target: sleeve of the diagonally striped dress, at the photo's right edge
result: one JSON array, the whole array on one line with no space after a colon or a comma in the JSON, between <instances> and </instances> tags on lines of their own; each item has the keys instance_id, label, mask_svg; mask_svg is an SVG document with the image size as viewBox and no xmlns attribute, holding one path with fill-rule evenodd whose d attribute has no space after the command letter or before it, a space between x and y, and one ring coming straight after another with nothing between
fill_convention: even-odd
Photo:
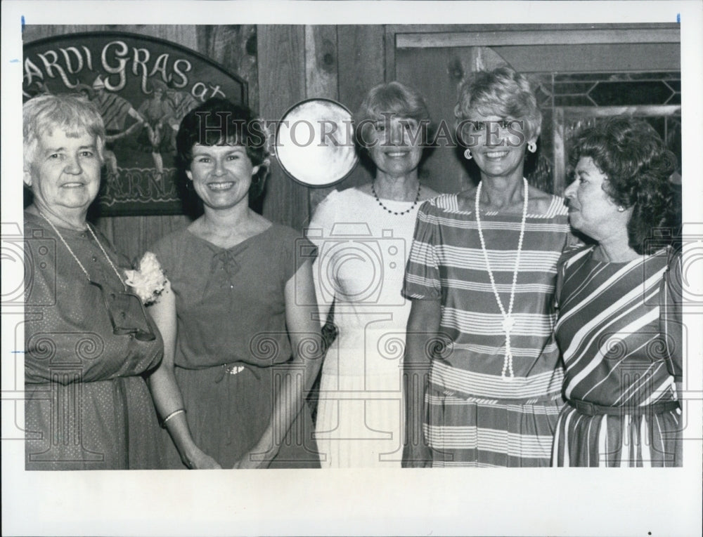
<instances>
[{"instance_id":1,"label":"sleeve of the diagonally striped dress, at the photo's right edge","mask_svg":"<svg viewBox=\"0 0 703 537\"><path fill-rule=\"evenodd\" d=\"M666 344L666 367L674 382L683 379L683 319L681 302L683 282L681 253L670 253L662 281L662 300L659 309L659 330Z\"/></svg>"}]
</instances>

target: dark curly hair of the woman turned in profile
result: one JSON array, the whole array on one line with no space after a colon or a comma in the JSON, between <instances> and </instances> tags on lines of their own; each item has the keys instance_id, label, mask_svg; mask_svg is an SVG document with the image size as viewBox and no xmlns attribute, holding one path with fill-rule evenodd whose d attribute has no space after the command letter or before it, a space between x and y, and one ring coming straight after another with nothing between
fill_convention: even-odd
<instances>
[{"instance_id":1,"label":"dark curly hair of the woman turned in profile","mask_svg":"<svg viewBox=\"0 0 703 537\"><path fill-rule=\"evenodd\" d=\"M572 167L581 157L591 157L607 177L602 188L610 198L632 208L627 224L630 248L641 255L661 247L661 239L675 241L681 209L669 178L676 170L676 156L650 124L612 117L585 128L574 139L569 154Z\"/></svg>"}]
</instances>

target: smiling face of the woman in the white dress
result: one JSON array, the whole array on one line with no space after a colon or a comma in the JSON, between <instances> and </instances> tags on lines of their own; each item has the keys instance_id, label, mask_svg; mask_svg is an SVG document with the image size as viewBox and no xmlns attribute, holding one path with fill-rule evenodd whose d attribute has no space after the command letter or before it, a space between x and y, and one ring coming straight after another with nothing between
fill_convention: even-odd
<instances>
[{"instance_id":1,"label":"smiling face of the woman in the white dress","mask_svg":"<svg viewBox=\"0 0 703 537\"><path fill-rule=\"evenodd\" d=\"M402 177L415 171L423 156L422 135L414 119L378 119L371 131L368 152L378 171Z\"/></svg>"}]
</instances>

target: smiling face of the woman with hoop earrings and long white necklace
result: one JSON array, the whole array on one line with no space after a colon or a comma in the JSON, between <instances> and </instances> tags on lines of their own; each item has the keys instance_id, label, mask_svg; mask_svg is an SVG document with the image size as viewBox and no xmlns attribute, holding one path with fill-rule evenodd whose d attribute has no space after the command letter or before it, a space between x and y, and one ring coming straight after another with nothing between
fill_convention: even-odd
<instances>
[{"instance_id":1,"label":"smiling face of the woman with hoop earrings and long white necklace","mask_svg":"<svg viewBox=\"0 0 703 537\"><path fill-rule=\"evenodd\" d=\"M475 112L463 132L470 136L471 154L482 176L522 178L527 142L536 141L536 136L528 139L525 121Z\"/></svg>"}]
</instances>

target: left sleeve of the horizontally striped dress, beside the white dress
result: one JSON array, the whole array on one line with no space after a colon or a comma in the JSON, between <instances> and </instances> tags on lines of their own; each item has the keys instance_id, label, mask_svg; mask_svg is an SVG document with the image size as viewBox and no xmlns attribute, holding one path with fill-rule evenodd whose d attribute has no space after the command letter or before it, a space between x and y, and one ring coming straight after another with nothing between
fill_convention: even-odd
<instances>
[{"instance_id":1,"label":"left sleeve of the horizontally striped dress, beside the white dress","mask_svg":"<svg viewBox=\"0 0 703 537\"><path fill-rule=\"evenodd\" d=\"M415 300L440 300L441 280L437 246L440 245L438 208L432 200L420 206L415 235L405 270L403 296Z\"/></svg>"}]
</instances>

